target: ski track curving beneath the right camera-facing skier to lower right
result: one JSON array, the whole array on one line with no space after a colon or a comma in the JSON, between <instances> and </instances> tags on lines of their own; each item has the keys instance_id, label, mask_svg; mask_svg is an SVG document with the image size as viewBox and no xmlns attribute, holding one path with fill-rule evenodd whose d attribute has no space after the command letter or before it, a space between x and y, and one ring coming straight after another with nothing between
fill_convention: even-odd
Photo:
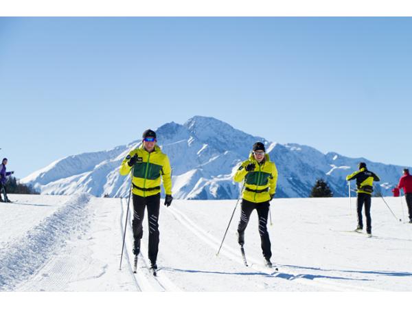
<instances>
[{"instance_id":1,"label":"ski track curving beneath the right camera-facing skier to lower right","mask_svg":"<svg viewBox=\"0 0 412 309\"><path fill-rule=\"evenodd\" d=\"M185 214L183 214L181 211L177 210L176 208L169 208L169 211L172 213L174 218L176 220L179 220L179 222L182 223L187 229L192 231L198 238L203 240L203 242L209 244L209 246L212 249L217 249L218 246L220 245L220 241L216 239L214 236L209 235L205 230L201 229L200 227L197 227L196 224L188 218ZM230 260L233 260L235 262L238 262L239 264L242 264L244 266L244 262L241 258L240 255L240 249L235 250L231 247L222 247L220 253L225 255L227 258ZM334 290L334 291L357 291L357 290L365 290L365 291L371 291L371 292L382 292L383 290L380 290L378 288L369 288L365 286L352 286L350 284L343 284L343 283L337 283L337 282L320 282L322 279L316 279L317 281L315 282L315 279L310 279L304 278L302 274L299 273L294 273L294 272L288 272L284 273L281 271L270 271L268 268L264 268L263 266L259 266L260 262L259 260L247 256L247 260L249 262L249 267L255 269L256 271L260 271L262 273L265 273L267 275L271 275L273 277L281 277L282 275L290 276L290 279L288 280L294 280L297 281L301 284L306 284L308 286L318 286L321 288L326 288L328 290ZM246 267L246 266L245 266ZM322 280L323 281L323 280Z\"/></svg>"}]
</instances>

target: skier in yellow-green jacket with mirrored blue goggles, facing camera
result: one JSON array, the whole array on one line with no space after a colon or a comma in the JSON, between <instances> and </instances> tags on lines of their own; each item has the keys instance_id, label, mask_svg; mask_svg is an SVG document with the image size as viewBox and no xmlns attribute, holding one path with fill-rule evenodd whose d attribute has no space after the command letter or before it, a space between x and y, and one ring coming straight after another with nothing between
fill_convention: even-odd
<instances>
[{"instance_id":1,"label":"skier in yellow-green jacket with mirrored blue goggles, facing camera","mask_svg":"<svg viewBox=\"0 0 412 309\"><path fill-rule=\"evenodd\" d=\"M140 252L140 241L143 236L144 210L148 209L149 250L148 257L153 273L157 269L157 253L159 251L159 209L160 184L163 179L165 203L172 203L172 179L169 158L156 145L155 131L146 130L139 148L129 152L120 167L120 174L126 176L133 168L133 254L135 264Z\"/></svg>"}]
</instances>

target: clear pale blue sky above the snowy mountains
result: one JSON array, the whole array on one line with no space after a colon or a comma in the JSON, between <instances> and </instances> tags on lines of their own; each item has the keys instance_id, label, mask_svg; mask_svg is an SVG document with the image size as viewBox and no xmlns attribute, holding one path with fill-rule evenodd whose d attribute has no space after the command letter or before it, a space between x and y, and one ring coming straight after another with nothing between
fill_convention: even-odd
<instances>
[{"instance_id":1,"label":"clear pale blue sky above the snowy mountains","mask_svg":"<svg viewBox=\"0 0 412 309\"><path fill-rule=\"evenodd\" d=\"M411 98L411 18L0 18L17 178L194 115L412 165Z\"/></svg>"}]
</instances>

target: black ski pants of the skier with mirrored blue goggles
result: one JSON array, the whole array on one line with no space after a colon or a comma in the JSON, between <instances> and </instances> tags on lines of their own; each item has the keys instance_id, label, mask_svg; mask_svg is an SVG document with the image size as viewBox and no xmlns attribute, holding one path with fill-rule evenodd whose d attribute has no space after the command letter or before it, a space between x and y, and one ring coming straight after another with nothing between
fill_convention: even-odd
<instances>
[{"instance_id":1,"label":"black ski pants of the skier with mirrored blue goggles","mask_svg":"<svg viewBox=\"0 0 412 309\"><path fill-rule=\"evenodd\" d=\"M149 260L156 263L159 251L159 209L160 193L152 196L138 196L133 194L133 238L135 239L135 253L140 252L140 241L143 237L144 209L148 209L149 226Z\"/></svg>"}]
</instances>

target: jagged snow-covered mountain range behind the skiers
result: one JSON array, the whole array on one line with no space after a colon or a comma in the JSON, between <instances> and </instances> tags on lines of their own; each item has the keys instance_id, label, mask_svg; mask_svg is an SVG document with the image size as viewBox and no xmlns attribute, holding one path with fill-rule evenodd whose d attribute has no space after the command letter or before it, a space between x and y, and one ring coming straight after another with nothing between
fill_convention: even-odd
<instances>
[{"instance_id":1,"label":"jagged snow-covered mountain range behind the skiers","mask_svg":"<svg viewBox=\"0 0 412 309\"><path fill-rule=\"evenodd\" d=\"M232 181L232 176L239 163L249 156L255 141L266 145L266 152L277 165L277 197L307 197L319 178L328 182L334 196L347 196L345 176L356 170L360 161L380 176L382 194L391 195L404 168L343 157L335 152L325 155L299 144L273 143L212 117L195 116L183 125L170 122L156 131L158 144L172 165L174 198L238 198L240 185ZM119 165L140 143L133 141L112 150L65 157L26 176L21 183L33 185L42 194L87 192L95 196L126 196L130 178L119 174Z\"/></svg>"}]
</instances>

